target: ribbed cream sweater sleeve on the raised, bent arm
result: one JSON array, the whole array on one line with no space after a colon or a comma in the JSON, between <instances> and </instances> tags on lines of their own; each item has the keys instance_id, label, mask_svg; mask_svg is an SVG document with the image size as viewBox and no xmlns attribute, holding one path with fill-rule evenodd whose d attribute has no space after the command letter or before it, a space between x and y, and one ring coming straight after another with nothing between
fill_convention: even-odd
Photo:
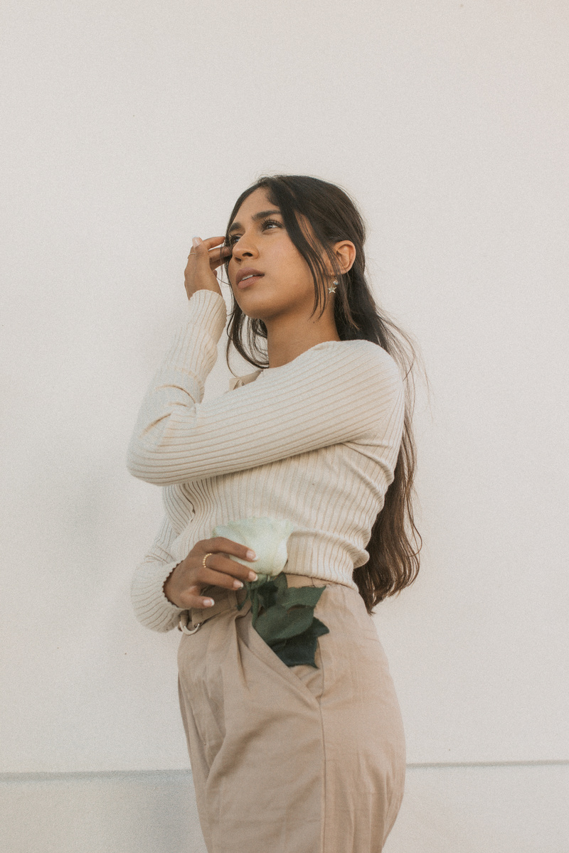
<instances>
[{"instance_id":1,"label":"ribbed cream sweater sleeve on the raised, bent arm","mask_svg":"<svg viewBox=\"0 0 569 853\"><path fill-rule=\"evenodd\" d=\"M224 299L197 291L189 314L142 401L127 454L139 479L174 485L330 444L374 442L401 411L397 363L362 339L316 344L202 403L224 329Z\"/></svg>"}]
</instances>

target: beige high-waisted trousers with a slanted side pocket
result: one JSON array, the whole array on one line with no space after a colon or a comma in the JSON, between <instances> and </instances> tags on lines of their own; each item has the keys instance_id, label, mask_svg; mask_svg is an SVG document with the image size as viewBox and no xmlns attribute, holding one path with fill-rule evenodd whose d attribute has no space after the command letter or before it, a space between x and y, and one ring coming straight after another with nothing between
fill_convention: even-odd
<instances>
[{"instance_id":1,"label":"beige high-waisted trousers with a slanted side pocket","mask_svg":"<svg viewBox=\"0 0 569 853\"><path fill-rule=\"evenodd\" d=\"M250 601L210 588L178 651L178 689L209 853L380 853L404 793L398 699L356 590L326 586L317 669L288 667L251 623Z\"/></svg>"}]
</instances>

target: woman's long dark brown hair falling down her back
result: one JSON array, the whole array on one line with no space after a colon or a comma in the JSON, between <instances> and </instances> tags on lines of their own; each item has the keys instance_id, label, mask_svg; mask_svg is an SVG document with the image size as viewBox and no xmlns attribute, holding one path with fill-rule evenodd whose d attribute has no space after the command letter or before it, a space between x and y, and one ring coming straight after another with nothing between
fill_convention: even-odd
<instances>
[{"instance_id":1,"label":"woman's long dark brown hair falling down her back","mask_svg":"<svg viewBox=\"0 0 569 853\"><path fill-rule=\"evenodd\" d=\"M398 363L405 384L404 429L395 478L386 491L385 502L371 531L367 545L369 560L354 570L353 578L368 612L389 595L395 595L413 583L419 572L419 552L422 539L413 519L413 494L415 488L416 448L412 429L415 406L415 382L412 368L417 354L409 334L404 333L392 319L380 310L366 281L363 244L366 233L363 217L355 202L344 189L334 183L306 175L275 175L260 177L235 201L225 233L229 246L229 226L247 196L264 188L270 203L278 207L287 234L308 264L314 280L314 310L325 309L328 295L329 273L326 270L320 247L325 250L339 285L334 295L334 320L341 340L364 339L379 344ZM307 240L298 215L311 224L316 245ZM333 252L334 244L349 240L356 247L356 259L342 274ZM228 274L229 260L224 264ZM226 360L229 366L231 345L248 363L256 368L267 368L267 328L262 320L243 314L233 296L230 311L229 336ZM244 342L246 338L246 342ZM229 366L230 368L230 366ZM411 541L413 537L413 542ZM415 550L419 539L419 548Z\"/></svg>"}]
</instances>

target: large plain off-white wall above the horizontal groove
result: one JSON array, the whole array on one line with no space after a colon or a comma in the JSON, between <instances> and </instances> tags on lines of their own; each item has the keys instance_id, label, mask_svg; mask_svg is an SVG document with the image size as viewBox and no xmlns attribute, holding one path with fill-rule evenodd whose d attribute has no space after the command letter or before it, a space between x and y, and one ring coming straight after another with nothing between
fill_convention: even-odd
<instances>
[{"instance_id":1,"label":"large plain off-white wall above the horizontal groove","mask_svg":"<svg viewBox=\"0 0 569 853\"><path fill-rule=\"evenodd\" d=\"M178 632L131 614L162 510L125 449L191 236L223 233L267 171L355 196L431 384L421 574L377 615L409 762L568 759L566 3L0 16L1 769L189 766ZM228 376L220 351L207 394Z\"/></svg>"}]
</instances>

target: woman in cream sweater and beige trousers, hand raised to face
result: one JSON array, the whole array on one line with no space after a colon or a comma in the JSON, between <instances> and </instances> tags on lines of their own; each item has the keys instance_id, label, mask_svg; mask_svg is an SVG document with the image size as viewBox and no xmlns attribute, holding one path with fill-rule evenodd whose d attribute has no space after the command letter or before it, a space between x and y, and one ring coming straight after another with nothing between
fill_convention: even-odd
<instances>
[{"instance_id":1,"label":"woman in cream sweater and beige trousers, hand raised to face","mask_svg":"<svg viewBox=\"0 0 569 853\"><path fill-rule=\"evenodd\" d=\"M131 439L129 470L163 486L165 505L133 602L148 628L183 631L180 707L210 853L378 853L403 798L404 731L371 612L418 571L415 446L404 348L365 281L364 239L334 184L249 187L224 237L193 241L188 318ZM222 264L228 364L235 345L256 369L202 403L227 318ZM284 663L253 628L254 554L212 537L258 517L294 525L288 588L323 588L313 664Z\"/></svg>"}]
</instances>

